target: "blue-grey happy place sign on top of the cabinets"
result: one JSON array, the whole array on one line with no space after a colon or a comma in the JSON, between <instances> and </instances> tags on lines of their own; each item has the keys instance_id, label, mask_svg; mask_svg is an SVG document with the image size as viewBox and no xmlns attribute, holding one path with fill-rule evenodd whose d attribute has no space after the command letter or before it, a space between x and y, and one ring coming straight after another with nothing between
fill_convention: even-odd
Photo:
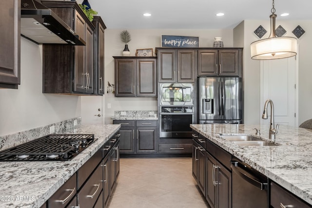
<instances>
[{"instance_id":1,"label":"blue-grey happy place sign on top of the cabinets","mask_svg":"<svg viewBox=\"0 0 312 208\"><path fill-rule=\"evenodd\" d=\"M198 48L198 37L188 36L161 36L161 47L176 47L176 48Z\"/></svg>"}]
</instances>

